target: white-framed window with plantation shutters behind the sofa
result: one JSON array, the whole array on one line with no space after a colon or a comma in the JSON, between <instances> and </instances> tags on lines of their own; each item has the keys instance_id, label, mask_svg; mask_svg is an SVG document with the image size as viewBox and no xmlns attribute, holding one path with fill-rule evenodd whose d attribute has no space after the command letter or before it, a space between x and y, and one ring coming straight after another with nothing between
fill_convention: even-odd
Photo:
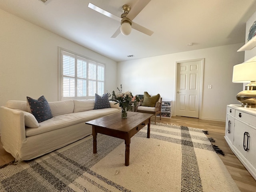
<instances>
[{"instance_id":1,"label":"white-framed window with plantation shutters behind the sofa","mask_svg":"<svg viewBox=\"0 0 256 192\"><path fill-rule=\"evenodd\" d=\"M60 54L61 100L104 94L104 64L64 50Z\"/></svg>"}]
</instances>

